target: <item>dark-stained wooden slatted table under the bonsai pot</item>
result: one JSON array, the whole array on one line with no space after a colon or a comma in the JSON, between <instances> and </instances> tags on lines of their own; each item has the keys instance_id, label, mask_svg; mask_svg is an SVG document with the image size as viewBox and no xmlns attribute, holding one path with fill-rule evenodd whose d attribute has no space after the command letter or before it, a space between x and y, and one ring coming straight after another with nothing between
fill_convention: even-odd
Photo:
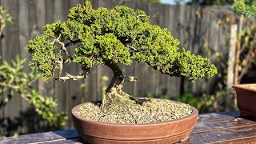
<instances>
[{"instance_id":1,"label":"dark-stained wooden slatted table under the bonsai pot","mask_svg":"<svg viewBox=\"0 0 256 144\"><path fill-rule=\"evenodd\" d=\"M0 138L0 143L87 143L76 130L58 130ZM200 114L198 122L186 142L179 143L255 143L256 118L240 118L239 111Z\"/></svg>"}]
</instances>

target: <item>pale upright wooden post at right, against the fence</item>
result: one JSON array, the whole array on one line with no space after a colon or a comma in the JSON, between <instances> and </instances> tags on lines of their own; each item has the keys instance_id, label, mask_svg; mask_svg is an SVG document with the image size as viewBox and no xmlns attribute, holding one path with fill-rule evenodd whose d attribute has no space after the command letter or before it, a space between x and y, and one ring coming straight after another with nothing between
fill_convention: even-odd
<instances>
[{"instance_id":1,"label":"pale upright wooden post at right, against the fence","mask_svg":"<svg viewBox=\"0 0 256 144\"><path fill-rule=\"evenodd\" d=\"M238 31L238 25L233 24L230 26L230 49L229 49L229 57L228 57L228 67L227 67L227 82L226 82L226 110L231 110L232 105L234 104L236 106L236 99L234 98L234 95L232 94L232 88L231 85L234 84L234 66L235 66L235 54L236 54L236 42L237 42L237 31ZM234 98L234 99L233 99Z\"/></svg>"}]
</instances>

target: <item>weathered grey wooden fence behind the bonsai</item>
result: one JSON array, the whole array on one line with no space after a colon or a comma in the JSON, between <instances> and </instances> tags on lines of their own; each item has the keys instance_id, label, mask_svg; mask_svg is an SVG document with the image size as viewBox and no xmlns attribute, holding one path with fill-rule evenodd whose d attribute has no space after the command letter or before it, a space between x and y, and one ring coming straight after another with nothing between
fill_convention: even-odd
<instances>
[{"instance_id":1,"label":"weathered grey wooden fence behind the bonsai","mask_svg":"<svg viewBox=\"0 0 256 144\"><path fill-rule=\"evenodd\" d=\"M6 26L4 38L1 40L2 59L10 61L19 54L29 62L30 55L24 49L29 39L42 34L42 26L45 24L58 20L65 21L70 7L83 2L83 0L0 0L1 6L4 6L14 18L14 24ZM92 0L91 3L94 8L100 6L113 8L124 5L145 10L146 14L154 16L150 20L153 24L168 28L174 38L180 39L181 47L191 50L193 54L203 54L203 47L222 50L223 54L227 53L230 25L235 22L232 13L226 8L169 6L132 0ZM27 63L25 70L31 71ZM200 94L203 91L212 91L212 85L216 82L216 78L199 80L194 83L188 82L186 78L170 78L136 62L130 67L122 66L122 70L124 74L139 78L138 82L125 84L125 91L138 97L150 93L157 96L167 94L170 98L177 98L185 90L194 90ZM68 66L66 72L78 74L81 68L78 65ZM85 98L87 102L102 98L101 78L103 75L111 78L111 71L105 66L97 66L91 70L89 78L84 81L45 83L39 80L34 86L41 94L57 98L58 110L65 111L70 116L71 108L82 102L82 98ZM82 84L85 88L82 88ZM45 123L34 116L32 111L18 95L12 98L0 110L0 122L6 125L5 128L0 128L1 134L8 134L11 131L8 129L10 126L12 130L17 130L20 134L43 130L42 126L45 126ZM23 126L16 126L20 123ZM70 117L64 128L70 128L72 125Z\"/></svg>"}]
</instances>

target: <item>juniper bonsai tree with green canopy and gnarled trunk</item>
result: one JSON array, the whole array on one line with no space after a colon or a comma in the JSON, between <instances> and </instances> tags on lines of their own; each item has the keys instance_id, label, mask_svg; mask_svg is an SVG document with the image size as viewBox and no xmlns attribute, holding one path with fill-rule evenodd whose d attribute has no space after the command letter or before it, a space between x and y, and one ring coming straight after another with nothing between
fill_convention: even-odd
<instances>
[{"instance_id":1,"label":"juniper bonsai tree with green canopy and gnarled trunk","mask_svg":"<svg viewBox=\"0 0 256 144\"><path fill-rule=\"evenodd\" d=\"M208 58L190 54L185 49L178 51L178 39L167 29L151 25L149 19L142 10L126 6L94 10L90 2L85 2L84 6L70 9L66 22L46 25L45 34L30 40L26 46L32 54L30 66L46 81L87 78L91 67L108 66L114 76L106 89L103 107L111 106L114 98L142 100L122 91L123 82L137 78L124 75L118 64L129 66L134 60L162 74L185 76L191 81L217 73ZM73 45L76 48L70 48ZM66 62L80 63L83 73L63 76L62 67Z\"/></svg>"}]
</instances>

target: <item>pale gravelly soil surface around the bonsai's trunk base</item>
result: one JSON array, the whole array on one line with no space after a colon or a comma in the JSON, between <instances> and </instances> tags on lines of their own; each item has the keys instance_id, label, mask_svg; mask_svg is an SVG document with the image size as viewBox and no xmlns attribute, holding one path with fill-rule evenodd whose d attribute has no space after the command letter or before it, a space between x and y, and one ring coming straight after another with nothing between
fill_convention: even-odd
<instances>
[{"instance_id":1,"label":"pale gravelly soil surface around the bonsai's trunk base","mask_svg":"<svg viewBox=\"0 0 256 144\"><path fill-rule=\"evenodd\" d=\"M164 122L192 113L189 105L165 99L149 99L139 103L125 98L113 101L104 109L101 103L88 102L78 109L78 113L89 120L126 124Z\"/></svg>"}]
</instances>

